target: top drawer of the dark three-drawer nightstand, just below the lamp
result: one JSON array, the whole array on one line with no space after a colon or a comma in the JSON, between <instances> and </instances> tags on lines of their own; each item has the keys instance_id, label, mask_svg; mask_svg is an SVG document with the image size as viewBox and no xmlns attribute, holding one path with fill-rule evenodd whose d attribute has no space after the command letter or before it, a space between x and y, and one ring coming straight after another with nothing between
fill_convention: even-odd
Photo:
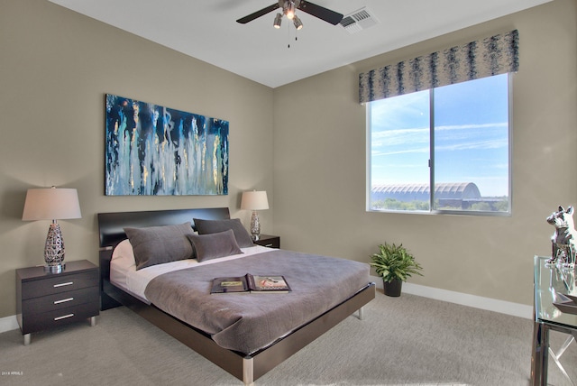
<instances>
[{"instance_id":1,"label":"top drawer of the dark three-drawer nightstand, just below the lamp","mask_svg":"<svg viewBox=\"0 0 577 386\"><path fill-rule=\"evenodd\" d=\"M28 280L22 286L22 299L32 299L75 289L98 286L98 271L76 273L74 275L55 275L53 278Z\"/></svg>"}]
</instances>

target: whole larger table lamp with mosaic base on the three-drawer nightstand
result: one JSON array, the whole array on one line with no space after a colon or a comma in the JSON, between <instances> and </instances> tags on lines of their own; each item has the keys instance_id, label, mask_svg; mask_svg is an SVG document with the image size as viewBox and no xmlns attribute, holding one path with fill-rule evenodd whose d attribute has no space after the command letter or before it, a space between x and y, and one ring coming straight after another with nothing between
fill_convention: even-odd
<instances>
[{"instance_id":1,"label":"whole larger table lamp with mosaic base on the three-drawer nightstand","mask_svg":"<svg viewBox=\"0 0 577 386\"><path fill-rule=\"evenodd\" d=\"M45 271L60 273L64 269L64 240L56 220L80 217L77 189L31 188L26 192L23 221L52 220L44 246Z\"/></svg>"}]
</instances>

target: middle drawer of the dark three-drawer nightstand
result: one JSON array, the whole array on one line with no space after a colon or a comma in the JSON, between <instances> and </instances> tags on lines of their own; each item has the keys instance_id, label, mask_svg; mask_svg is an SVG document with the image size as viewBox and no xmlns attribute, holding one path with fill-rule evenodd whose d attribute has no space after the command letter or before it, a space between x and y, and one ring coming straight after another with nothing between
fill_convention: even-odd
<instances>
[{"instance_id":1,"label":"middle drawer of the dark three-drawer nightstand","mask_svg":"<svg viewBox=\"0 0 577 386\"><path fill-rule=\"evenodd\" d=\"M79 304L94 302L98 299L98 287L88 287L43 296L41 298L25 299L22 302L22 312L25 315L41 314L62 308L74 307Z\"/></svg>"}]
</instances>

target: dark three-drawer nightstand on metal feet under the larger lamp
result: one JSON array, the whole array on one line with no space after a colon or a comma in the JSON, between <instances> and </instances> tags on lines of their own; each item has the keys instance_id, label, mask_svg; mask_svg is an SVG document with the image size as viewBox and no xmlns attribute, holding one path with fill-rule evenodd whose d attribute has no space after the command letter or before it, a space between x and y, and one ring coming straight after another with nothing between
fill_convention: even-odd
<instances>
[{"instance_id":1,"label":"dark three-drawer nightstand on metal feet under the larger lamp","mask_svg":"<svg viewBox=\"0 0 577 386\"><path fill-rule=\"evenodd\" d=\"M81 260L66 262L61 273L43 266L16 270L16 318L30 344L32 333L90 318L99 314L98 267Z\"/></svg>"}]
</instances>

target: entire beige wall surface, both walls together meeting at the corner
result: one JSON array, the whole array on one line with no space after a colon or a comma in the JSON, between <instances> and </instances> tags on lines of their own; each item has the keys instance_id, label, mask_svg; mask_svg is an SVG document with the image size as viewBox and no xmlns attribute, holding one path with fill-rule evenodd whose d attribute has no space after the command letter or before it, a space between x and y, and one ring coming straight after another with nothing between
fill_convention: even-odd
<instances>
[{"instance_id":1,"label":"entire beige wall surface, both walls together meeting at the corner","mask_svg":"<svg viewBox=\"0 0 577 386\"><path fill-rule=\"evenodd\" d=\"M0 10L0 317L15 313L14 270L42 262L48 224L21 220L31 187L78 188L83 218L60 222L69 260L97 262L98 212L227 206L246 224L240 192L262 188L263 229L283 247L367 262L377 244L402 242L425 266L411 282L527 305L532 257L553 233L545 216L577 204L573 0L275 90L45 0L0 0ZM513 28L513 216L366 213L358 73ZM105 93L229 120L229 196L105 197Z\"/></svg>"}]
</instances>

